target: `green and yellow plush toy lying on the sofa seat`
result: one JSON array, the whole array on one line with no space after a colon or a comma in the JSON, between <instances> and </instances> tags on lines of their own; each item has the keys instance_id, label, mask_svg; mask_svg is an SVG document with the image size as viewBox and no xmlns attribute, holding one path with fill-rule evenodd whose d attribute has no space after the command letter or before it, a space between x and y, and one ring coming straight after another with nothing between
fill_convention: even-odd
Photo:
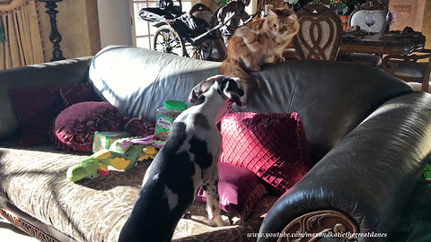
<instances>
[{"instance_id":1,"label":"green and yellow plush toy lying on the sofa seat","mask_svg":"<svg viewBox=\"0 0 431 242\"><path fill-rule=\"evenodd\" d=\"M67 169L66 177L72 181L84 178L94 179L100 175L109 175L109 166L115 169L132 169L136 161L154 159L157 150L154 148L154 137L144 139L128 137L115 141L110 149L97 151L79 164Z\"/></svg>"}]
</instances>

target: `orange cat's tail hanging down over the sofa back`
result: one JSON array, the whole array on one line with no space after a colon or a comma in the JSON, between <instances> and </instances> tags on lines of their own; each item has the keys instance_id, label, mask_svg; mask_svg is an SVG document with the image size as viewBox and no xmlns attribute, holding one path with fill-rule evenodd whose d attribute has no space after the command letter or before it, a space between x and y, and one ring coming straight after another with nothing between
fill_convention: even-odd
<instances>
[{"instance_id":1,"label":"orange cat's tail hanging down over the sofa back","mask_svg":"<svg viewBox=\"0 0 431 242\"><path fill-rule=\"evenodd\" d=\"M251 92L254 91L254 78L247 73L241 65L229 57L222 63L220 73L231 77L238 77L241 80L242 87L244 88L244 96L242 99L247 103L247 97L249 97Z\"/></svg>"}]
</instances>

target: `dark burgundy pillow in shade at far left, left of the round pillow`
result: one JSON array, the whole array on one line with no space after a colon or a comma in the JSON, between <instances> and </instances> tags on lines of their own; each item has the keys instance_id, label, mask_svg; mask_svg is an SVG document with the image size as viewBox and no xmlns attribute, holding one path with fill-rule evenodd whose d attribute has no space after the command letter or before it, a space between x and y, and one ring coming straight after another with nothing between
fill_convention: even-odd
<instances>
[{"instance_id":1,"label":"dark burgundy pillow in shade at far left, left of the round pillow","mask_svg":"<svg viewBox=\"0 0 431 242\"><path fill-rule=\"evenodd\" d=\"M21 125L21 145L50 142L51 125L63 109L57 87L39 87L9 91Z\"/></svg>"}]
</instances>

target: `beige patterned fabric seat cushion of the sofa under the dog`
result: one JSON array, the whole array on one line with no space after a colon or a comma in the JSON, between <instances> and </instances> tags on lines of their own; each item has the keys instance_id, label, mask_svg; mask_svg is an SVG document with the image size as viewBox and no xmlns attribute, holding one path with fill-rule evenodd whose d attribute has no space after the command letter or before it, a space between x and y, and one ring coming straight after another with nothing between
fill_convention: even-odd
<instances>
[{"instance_id":1,"label":"beige patterned fabric seat cushion of the sofa under the dog","mask_svg":"<svg viewBox=\"0 0 431 242\"><path fill-rule=\"evenodd\" d=\"M31 214L77 241L117 241L119 231L140 191L149 162L128 171L77 183L66 179L66 170L86 158L57 151L52 144L26 149L0 148L0 194L17 208ZM181 219L173 241L240 241L247 232L257 233L277 197L266 195L243 224L213 228L207 223L205 203L193 203ZM224 212L232 220L240 219ZM239 238L242 237L242 238Z\"/></svg>"}]
</instances>

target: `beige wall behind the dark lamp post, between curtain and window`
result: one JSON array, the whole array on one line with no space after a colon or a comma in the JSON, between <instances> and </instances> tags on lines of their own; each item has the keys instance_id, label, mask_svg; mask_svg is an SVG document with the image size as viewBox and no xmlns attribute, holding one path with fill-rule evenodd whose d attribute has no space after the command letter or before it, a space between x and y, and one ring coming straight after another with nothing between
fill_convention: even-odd
<instances>
[{"instance_id":1,"label":"beige wall behind the dark lamp post, between curtain and window","mask_svg":"<svg viewBox=\"0 0 431 242\"><path fill-rule=\"evenodd\" d=\"M62 37L63 56L75 58L97 53L101 49L101 40L96 0L68 0L57 3L57 6L57 29ZM37 8L43 56L48 62L53 46L49 41L51 25L45 4L37 2Z\"/></svg>"}]
</instances>

